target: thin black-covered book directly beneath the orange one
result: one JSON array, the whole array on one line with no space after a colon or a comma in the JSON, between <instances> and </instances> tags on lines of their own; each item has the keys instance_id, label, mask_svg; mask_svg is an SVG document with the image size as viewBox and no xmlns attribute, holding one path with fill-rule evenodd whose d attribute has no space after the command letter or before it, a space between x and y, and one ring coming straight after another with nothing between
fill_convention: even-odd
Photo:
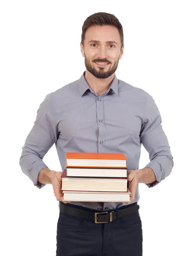
<instances>
[{"instance_id":1,"label":"thin black-covered book directly beneath the orange one","mask_svg":"<svg viewBox=\"0 0 193 256\"><path fill-rule=\"evenodd\" d=\"M85 167L67 167L66 177L116 177L126 178L127 168L85 168Z\"/></svg>"}]
</instances>

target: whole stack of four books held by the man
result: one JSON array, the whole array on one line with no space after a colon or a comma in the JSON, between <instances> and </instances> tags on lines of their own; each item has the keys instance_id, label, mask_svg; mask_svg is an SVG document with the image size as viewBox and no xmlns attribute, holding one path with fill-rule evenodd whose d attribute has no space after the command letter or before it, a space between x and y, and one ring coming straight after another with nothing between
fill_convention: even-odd
<instances>
[{"instance_id":1,"label":"whole stack of four books held by the man","mask_svg":"<svg viewBox=\"0 0 193 256\"><path fill-rule=\"evenodd\" d=\"M63 201L130 202L123 153L67 152Z\"/></svg>"}]
</instances>

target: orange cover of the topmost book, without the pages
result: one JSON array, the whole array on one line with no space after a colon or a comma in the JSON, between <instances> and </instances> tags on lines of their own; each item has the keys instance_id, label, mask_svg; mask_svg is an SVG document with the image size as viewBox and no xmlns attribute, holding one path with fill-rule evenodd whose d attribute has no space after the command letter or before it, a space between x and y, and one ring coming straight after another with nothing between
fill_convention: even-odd
<instances>
[{"instance_id":1,"label":"orange cover of the topmost book, without the pages","mask_svg":"<svg viewBox=\"0 0 193 256\"><path fill-rule=\"evenodd\" d=\"M127 160L123 153L66 152L66 158Z\"/></svg>"}]
</instances>

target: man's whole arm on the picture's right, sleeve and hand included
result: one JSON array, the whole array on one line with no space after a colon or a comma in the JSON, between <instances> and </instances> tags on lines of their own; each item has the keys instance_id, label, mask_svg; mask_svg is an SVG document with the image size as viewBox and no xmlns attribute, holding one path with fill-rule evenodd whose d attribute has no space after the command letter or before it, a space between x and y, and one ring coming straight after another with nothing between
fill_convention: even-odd
<instances>
[{"instance_id":1,"label":"man's whole arm on the picture's right, sleeve and hand included","mask_svg":"<svg viewBox=\"0 0 193 256\"><path fill-rule=\"evenodd\" d=\"M173 168L173 156L161 125L162 119L153 98L147 94L145 117L140 131L140 141L149 153L150 162L143 169L129 170L128 181L131 201L135 198L138 183L149 188L165 179Z\"/></svg>"}]
</instances>

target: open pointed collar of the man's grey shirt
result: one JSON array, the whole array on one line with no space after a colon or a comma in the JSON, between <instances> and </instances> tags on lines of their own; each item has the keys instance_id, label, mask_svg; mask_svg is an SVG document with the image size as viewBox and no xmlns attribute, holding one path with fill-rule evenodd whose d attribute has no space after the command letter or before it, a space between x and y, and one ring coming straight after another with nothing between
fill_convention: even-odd
<instances>
[{"instance_id":1,"label":"open pointed collar of the man's grey shirt","mask_svg":"<svg viewBox=\"0 0 193 256\"><path fill-rule=\"evenodd\" d=\"M86 90L88 90L88 89L91 90L91 88L89 87L89 85L85 79L85 71L82 74L82 76L79 78L79 80L77 81L77 84L79 87L80 96L82 96ZM118 96L118 84L119 84L119 81L115 75L114 79L111 83L111 86L107 90L107 93L110 89L112 89L114 91L114 93L116 93L116 95Z\"/></svg>"}]
</instances>

